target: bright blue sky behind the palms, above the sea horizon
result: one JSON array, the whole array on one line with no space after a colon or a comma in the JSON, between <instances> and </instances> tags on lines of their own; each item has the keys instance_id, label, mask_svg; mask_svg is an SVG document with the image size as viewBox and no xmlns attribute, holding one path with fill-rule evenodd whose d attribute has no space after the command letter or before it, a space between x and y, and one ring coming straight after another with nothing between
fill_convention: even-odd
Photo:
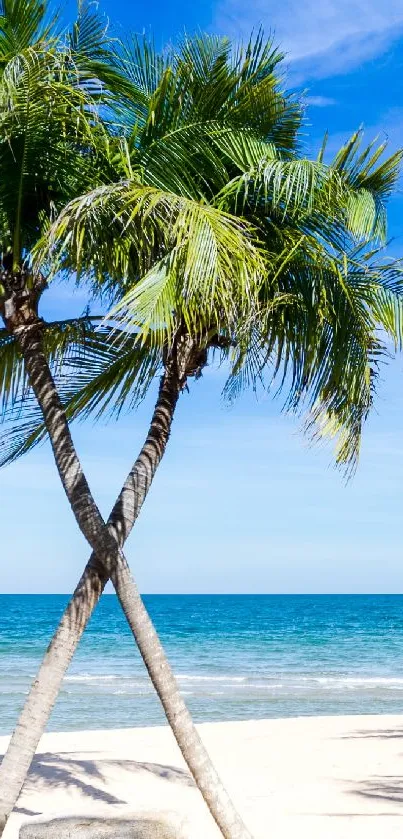
<instances>
[{"instance_id":1,"label":"bright blue sky behind the palms, above the sea horizon","mask_svg":"<svg viewBox=\"0 0 403 839\"><path fill-rule=\"evenodd\" d=\"M73 4L71 4L71 8ZM104 0L123 29L157 44L186 28L247 36L261 23L287 51L289 85L307 90L307 152L329 130L333 150L361 123L403 145L401 0ZM67 11L69 6L67 7ZM66 14L67 14L66 11ZM392 201L391 252L403 250L403 202ZM85 294L55 285L43 313L80 313ZM311 448L269 396L223 407L209 368L181 397L168 453L127 556L145 592L403 591L403 362L385 367L360 467L345 485L330 449ZM118 424L75 428L105 515L144 438L152 394ZM3 592L70 591L87 558L47 446L0 478Z\"/></svg>"}]
</instances>

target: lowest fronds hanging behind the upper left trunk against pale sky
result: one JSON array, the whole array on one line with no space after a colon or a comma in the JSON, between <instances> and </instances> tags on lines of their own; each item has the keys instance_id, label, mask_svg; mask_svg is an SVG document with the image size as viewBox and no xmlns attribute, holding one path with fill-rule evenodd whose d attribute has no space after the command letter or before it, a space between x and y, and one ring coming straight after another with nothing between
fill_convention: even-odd
<instances>
[{"instance_id":1,"label":"lowest fronds hanging behind the upper left trunk against pale sky","mask_svg":"<svg viewBox=\"0 0 403 839\"><path fill-rule=\"evenodd\" d=\"M94 330L87 319L50 324L46 330L51 369L71 423L90 417L117 419L122 410L133 410L158 374L162 365L158 349L140 346L135 338L129 342L126 335L117 338L116 331L113 342L110 338L108 328ZM27 454L47 437L32 391L26 383L24 389L17 381L15 385L14 399L2 418L0 466Z\"/></svg>"}]
</instances>

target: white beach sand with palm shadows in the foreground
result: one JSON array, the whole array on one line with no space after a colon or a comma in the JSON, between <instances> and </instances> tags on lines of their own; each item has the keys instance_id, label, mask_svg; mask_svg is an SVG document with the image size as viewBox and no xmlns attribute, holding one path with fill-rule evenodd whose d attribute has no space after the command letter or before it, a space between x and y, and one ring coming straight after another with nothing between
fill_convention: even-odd
<instances>
[{"instance_id":1,"label":"white beach sand with palm shadows in the foreground","mask_svg":"<svg viewBox=\"0 0 403 839\"><path fill-rule=\"evenodd\" d=\"M200 734L255 839L403 835L403 715L208 723ZM0 754L7 738L0 738ZM168 728L46 734L4 839L67 816L162 816L219 839ZM57 835L57 832L55 832Z\"/></svg>"}]
</instances>

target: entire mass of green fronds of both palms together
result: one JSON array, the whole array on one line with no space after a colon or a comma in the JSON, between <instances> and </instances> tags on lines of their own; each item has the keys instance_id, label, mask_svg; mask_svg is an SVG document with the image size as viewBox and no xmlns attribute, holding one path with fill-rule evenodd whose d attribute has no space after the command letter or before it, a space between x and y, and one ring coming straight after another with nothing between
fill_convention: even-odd
<instances>
[{"instance_id":1,"label":"entire mass of green fronds of both palms together","mask_svg":"<svg viewBox=\"0 0 403 839\"><path fill-rule=\"evenodd\" d=\"M339 435L337 457L354 460L379 329L402 337L401 268L379 250L402 153L360 130L329 163L327 138L303 158L303 107L262 31L238 49L197 36L158 54L111 38L91 3L67 40L34 0L2 12L2 252L48 281L89 278L109 307L71 392L59 352L71 416L134 404L180 328L226 359L226 395L277 380L287 408L305 406L314 435ZM7 412L24 374L6 338Z\"/></svg>"}]
</instances>

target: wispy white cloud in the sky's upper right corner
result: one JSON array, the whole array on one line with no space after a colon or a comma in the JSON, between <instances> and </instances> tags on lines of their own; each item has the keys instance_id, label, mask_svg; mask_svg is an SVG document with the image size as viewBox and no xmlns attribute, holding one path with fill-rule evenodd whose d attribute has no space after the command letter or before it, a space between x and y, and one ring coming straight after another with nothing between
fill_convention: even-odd
<instances>
[{"instance_id":1,"label":"wispy white cloud in the sky's upper right corner","mask_svg":"<svg viewBox=\"0 0 403 839\"><path fill-rule=\"evenodd\" d=\"M219 0L215 29L247 37L273 32L299 78L344 72L382 52L403 31L402 0ZM295 66L296 65L296 66Z\"/></svg>"}]
</instances>

